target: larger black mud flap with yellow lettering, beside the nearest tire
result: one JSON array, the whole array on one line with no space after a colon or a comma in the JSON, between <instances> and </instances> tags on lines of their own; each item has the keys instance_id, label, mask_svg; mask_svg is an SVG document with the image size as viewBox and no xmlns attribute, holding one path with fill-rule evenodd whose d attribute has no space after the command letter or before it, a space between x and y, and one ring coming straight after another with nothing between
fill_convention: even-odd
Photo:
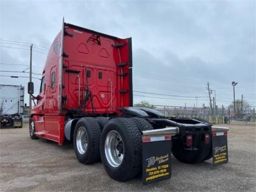
<instances>
[{"instance_id":1,"label":"larger black mud flap with yellow lettering, beside the nearest tire","mask_svg":"<svg viewBox=\"0 0 256 192\"><path fill-rule=\"evenodd\" d=\"M143 137L143 184L172 177L172 136Z\"/></svg>"}]
</instances>

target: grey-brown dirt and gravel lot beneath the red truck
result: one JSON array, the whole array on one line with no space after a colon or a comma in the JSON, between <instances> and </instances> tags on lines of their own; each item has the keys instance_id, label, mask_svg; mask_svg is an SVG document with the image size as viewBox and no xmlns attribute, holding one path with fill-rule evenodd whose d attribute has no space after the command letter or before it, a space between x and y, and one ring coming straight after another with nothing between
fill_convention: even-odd
<instances>
[{"instance_id":1,"label":"grey-brown dirt and gravel lot beneath the red truck","mask_svg":"<svg viewBox=\"0 0 256 192\"><path fill-rule=\"evenodd\" d=\"M140 177L112 180L101 163L79 163L72 145L31 140L28 125L0 129L0 191L256 191L255 125L228 127L228 164L213 168L211 160L184 164L173 157L172 179L148 186Z\"/></svg>"}]
</instances>

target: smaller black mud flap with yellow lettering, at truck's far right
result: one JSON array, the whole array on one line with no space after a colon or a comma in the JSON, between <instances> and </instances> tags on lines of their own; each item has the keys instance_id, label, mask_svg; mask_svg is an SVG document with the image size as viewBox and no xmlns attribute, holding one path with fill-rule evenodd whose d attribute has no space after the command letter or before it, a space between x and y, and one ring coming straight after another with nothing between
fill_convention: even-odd
<instances>
[{"instance_id":1,"label":"smaller black mud flap with yellow lettering, at truck's far right","mask_svg":"<svg viewBox=\"0 0 256 192\"><path fill-rule=\"evenodd\" d=\"M228 163L227 132L212 132L212 163Z\"/></svg>"}]
</instances>

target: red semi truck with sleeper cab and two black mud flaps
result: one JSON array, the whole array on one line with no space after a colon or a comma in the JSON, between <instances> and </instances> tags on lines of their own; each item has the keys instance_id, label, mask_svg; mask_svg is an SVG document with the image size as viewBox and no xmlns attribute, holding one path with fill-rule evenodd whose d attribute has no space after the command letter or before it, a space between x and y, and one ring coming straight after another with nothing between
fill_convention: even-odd
<instances>
[{"instance_id":1,"label":"red semi truck with sleeper cab and two black mud flaps","mask_svg":"<svg viewBox=\"0 0 256 192\"><path fill-rule=\"evenodd\" d=\"M32 82L28 93L33 96ZM115 180L132 179L141 169L145 184L168 179L171 154L184 163L200 163L212 152L214 164L228 161L227 128L133 107L131 38L63 21L33 99L31 139L71 141L81 163L101 159Z\"/></svg>"}]
</instances>

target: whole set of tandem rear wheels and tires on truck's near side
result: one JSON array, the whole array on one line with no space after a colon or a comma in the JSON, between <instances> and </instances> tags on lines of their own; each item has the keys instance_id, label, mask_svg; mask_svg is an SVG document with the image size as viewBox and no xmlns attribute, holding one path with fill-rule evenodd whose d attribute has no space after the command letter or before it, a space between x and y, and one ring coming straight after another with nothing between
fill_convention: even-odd
<instances>
[{"instance_id":1,"label":"whole set of tandem rear wheels and tires on truck's near side","mask_svg":"<svg viewBox=\"0 0 256 192\"><path fill-rule=\"evenodd\" d=\"M141 131L153 127L141 118L105 120L100 119L104 121L100 124L97 118L85 117L77 122L73 140L77 159L90 164L101 157L111 178L132 179L141 171Z\"/></svg>"}]
</instances>

